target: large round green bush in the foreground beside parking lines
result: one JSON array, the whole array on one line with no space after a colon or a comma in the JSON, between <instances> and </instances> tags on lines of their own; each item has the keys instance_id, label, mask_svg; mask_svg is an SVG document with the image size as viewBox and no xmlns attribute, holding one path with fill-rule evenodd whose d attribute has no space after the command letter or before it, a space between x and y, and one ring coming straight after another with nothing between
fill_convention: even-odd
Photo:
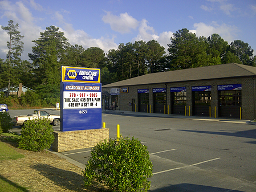
<instances>
[{"instance_id":1,"label":"large round green bush in the foreground beside parking lines","mask_svg":"<svg viewBox=\"0 0 256 192\"><path fill-rule=\"evenodd\" d=\"M83 171L84 185L104 183L113 191L147 191L152 162L137 138L109 139L95 145Z\"/></svg>"}]
</instances>

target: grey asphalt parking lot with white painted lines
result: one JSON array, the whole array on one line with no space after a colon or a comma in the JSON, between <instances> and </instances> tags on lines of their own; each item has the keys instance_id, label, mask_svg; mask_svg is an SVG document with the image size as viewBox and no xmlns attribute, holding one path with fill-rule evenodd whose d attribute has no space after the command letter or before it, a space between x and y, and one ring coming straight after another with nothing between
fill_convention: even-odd
<instances>
[{"instance_id":1,"label":"grey asphalt parking lot with white painted lines","mask_svg":"<svg viewBox=\"0 0 256 192\"><path fill-rule=\"evenodd\" d=\"M52 113L52 112L50 112ZM56 113L54 113L56 114ZM153 164L150 191L256 191L256 125L239 120L103 112L109 137L139 138ZM61 153L80 165L90 148Z\"/></svg>"}]
</instances>

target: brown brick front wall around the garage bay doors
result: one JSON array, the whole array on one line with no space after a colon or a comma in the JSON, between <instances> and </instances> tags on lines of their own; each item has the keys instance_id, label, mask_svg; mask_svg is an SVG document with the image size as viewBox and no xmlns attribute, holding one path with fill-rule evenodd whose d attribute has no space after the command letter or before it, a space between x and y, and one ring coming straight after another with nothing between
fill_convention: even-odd
<instances>
[{"instance_id":1,"label":"brown brick front wall around the garage bay doors","mask_svg":"<svg viewBox=\"0 0 256 192\"><path fill-rule=\"evenodd\" d=\"M236 78L226 78L226 79L209 79L209 80L200 80L200 81L181 81L175 83L166 83L167 84L167 105L169 105L169 114L170 114L170 87L186 87L187 94L187 103L186 103L186 115L192 116L193 112L193 101L192 101L192 87L193 86L212 86L212 101L211 101L211 117L219 117L219 106L218 106L218 85L225 84L242 84L242 119L245 120L254 120L255 118L255 88L254 88L254 79L253 76L249 77L236 77ZM127 87L127 86L124 86ZM129 86L129 93L120 93L120 109L123 111L132 111L132 106L129 103L132 102L132 99L135 99L136 111L138 111L138 93L137 89L149 89L149 106L153 112L153 88L166 88L165 83L160 84L148 84L148 85L131 85ZM103 91L108 91L110 93L110 88L104 87ZM167 107L166 107L167 109ZM149 110L150 111L150 110ZM168 112L166 112L168 113Z\"/></svg>"}]
</instances>

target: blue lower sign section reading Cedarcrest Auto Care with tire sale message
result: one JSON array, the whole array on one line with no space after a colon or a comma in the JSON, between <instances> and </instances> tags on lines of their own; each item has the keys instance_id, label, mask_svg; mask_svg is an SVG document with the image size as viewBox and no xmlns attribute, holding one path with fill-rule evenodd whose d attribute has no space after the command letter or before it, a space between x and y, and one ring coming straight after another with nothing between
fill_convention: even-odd
<instances>
[{"instance_id":1,"label":"blue lower sign section reading Cedarcrest Auto Care with tire sale message","mask_svg":"<svg viewBox=\"0 0 256 192\"><path fill-rule=\"evenodd\" d=\"M61 83L61 131L101 129L101 84Z\"/></svg>"}]
</instances>

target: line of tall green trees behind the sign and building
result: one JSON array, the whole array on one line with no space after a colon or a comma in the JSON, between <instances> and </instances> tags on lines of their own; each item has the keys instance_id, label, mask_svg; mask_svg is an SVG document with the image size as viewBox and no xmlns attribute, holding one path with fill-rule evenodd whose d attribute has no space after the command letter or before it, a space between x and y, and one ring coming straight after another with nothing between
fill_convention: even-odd
<instances>
[{"instance_id":1,"label":"line of tall green trees behind the sign and building","mask_svg":"<svg viewBox=\"0 0 256 192\"><path fill-rule=\"evenodd\" d=\"M23 42L18 24L9 21L3 27L10 39L5 59L0 59L0 88L23 83L34 89L41 100L59 99L61 66L100 68L101 83L109 84L147 73L181 70L225 63L256 66L253 49L242 40L228 44L218 34L208 38L182 28L170 38L168 52L156 40L120 43L107 54L99 47L83 48L68 43L59 27L47 27L29 53L30 62L22 60ZM49 101L50 102L50 101Z\"/></svg>"}]
</instances>

